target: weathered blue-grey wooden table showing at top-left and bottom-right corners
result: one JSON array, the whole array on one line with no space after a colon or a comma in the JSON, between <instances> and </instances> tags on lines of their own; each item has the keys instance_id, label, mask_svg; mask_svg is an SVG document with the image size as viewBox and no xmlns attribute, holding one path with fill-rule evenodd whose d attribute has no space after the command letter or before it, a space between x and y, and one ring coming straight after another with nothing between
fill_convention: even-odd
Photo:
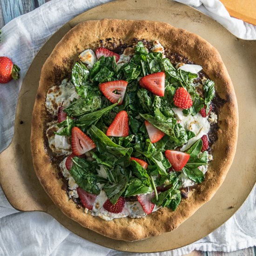
<instances>
[{"instance_id":1,"label":"weathered blue-grey wooden table showing at top-left and bottom-right corners","mask_svg":"<svg viewBox=\"0 0 256 256\"><path fill-rule=\"evenodd\" d=\"M50 0L0 0L0 28L10 20L33 11ZM203 252L193 251L187 256L256 256L256 246L235 252Z\"/></svg>"}]
</instances>

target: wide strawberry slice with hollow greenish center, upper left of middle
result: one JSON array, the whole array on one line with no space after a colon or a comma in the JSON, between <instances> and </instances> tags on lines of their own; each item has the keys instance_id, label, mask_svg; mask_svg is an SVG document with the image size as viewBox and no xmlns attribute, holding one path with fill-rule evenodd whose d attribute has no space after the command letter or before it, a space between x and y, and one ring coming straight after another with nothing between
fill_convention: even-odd
<instances>
[{"instance_id":1,"label":"wide strawberry slice with hollow greenish center, upper left of middle","mask_svg":"<svg viewBox=\"0 0 256 256\"><path fill-rule=\"evenodd\" d=\"M127 85L128 82L123 80L110 81L101 83L100 90L104 94L104 96L112 103L118 102L121 98L121 101L118 103L119 105L121 105Z\"/></svg>"}]
</instances>

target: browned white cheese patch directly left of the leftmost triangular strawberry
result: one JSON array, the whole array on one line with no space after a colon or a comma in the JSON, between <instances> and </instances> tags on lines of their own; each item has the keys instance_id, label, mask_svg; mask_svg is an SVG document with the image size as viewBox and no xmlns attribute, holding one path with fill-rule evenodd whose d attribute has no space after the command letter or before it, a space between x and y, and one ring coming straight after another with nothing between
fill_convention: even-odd
<instances>
[{"instance_id":1,"label":"browned white cheese patch directly left of the leftmost triangular strawberry","mask_svg":"<svg viewBox=\"0 0 256 256\"><path fill-rule=\"evenodd\" d=\"M69 138L67 136L55 135L55 132L59 130L57 122L50 123L50 127L46 131L49 147L55 154L67 155L71 152Z\"/></svg>"}]
</instances>

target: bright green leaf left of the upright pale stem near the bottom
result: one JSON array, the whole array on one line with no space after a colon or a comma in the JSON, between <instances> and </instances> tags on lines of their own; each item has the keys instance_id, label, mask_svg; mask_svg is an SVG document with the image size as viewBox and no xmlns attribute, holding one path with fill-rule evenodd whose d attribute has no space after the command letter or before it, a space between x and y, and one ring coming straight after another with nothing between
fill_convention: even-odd
<instances>
[{"instance_id":1,"label":"bright green leaf left of the upright pale stem near the bottom","mask_svg":"<svg viewBox=\"0 0 256 256\"><path fill-rule=\"evenodd\" d=\"M151 186L147 187L138 178L131 178L128 182L128 187L125 191L124 196L132 196L138 194L149 194L152 193L153 189Z\"/></svg>"}]
</instances>

